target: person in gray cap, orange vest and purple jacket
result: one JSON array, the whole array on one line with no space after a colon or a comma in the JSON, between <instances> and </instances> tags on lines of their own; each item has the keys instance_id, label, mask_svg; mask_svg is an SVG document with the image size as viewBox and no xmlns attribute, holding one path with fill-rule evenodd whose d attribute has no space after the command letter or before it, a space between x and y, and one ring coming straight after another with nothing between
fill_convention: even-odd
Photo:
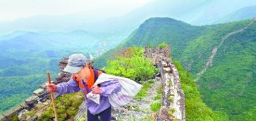
<instances>
[{"instance_id":1,"label":"person in gray cap, orange vest and purple jacket","mask_svg":"<svg viewBox=\"0 0 256 121\"><path fill-rule=\"evenodd\" d=\"M94 82L102 71L93 69L84 54L71 54L67 62L67 66L64 71L72 73L69 81L58 85L48 84L46 85L47 91L65 94L75 93L82 89L82 92L85 95L84 101L88 108L88 121L110 120L111 106L108 102L108 95L120 91L120 83L118 81L110 80L94 86ZM94 94L100 94L100 104L96 104L86 97L90 91Z\"/></svg>"}]
</instances>

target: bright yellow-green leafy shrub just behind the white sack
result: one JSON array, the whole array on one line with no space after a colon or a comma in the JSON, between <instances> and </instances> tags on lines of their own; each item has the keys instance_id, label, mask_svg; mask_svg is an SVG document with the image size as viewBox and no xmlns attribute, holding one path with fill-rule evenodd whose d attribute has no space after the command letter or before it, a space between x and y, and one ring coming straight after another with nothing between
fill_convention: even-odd
<instances>
[{"instance_id":1,"label":"bright yellow-green leafy shrub just behind the white sack","mask_svg":"<svg viewBox=\"0 0 256 121\"><path fill-rule=\"evenodd\" d=\"M142 55L141 48L131 47L121 53L116 60L108 60L106 67L103 68L106 73L141 81L152 78L158 71L149 58Z\"/></svg>"}]
</instances>

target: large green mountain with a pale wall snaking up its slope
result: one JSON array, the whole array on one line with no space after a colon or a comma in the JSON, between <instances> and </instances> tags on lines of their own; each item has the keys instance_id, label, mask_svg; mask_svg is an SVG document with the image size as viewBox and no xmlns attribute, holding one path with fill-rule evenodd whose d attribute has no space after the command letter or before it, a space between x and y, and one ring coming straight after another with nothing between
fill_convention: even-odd
<instances>
[{"instance_id":1,"label":"large green mountain with a pale wall snaking up its slope","mask_svg":"<svg viewBox=\"0 0 256 121\"><path fill-rule=\"evenodd\" d=\"M255 23L247 19L191 26L167 17L151 18L95 63L104 66L121 48L168 42L172 59L191 73L207 106L228 114L230 120L255 120Z\"/></svg>"}]
</instances>

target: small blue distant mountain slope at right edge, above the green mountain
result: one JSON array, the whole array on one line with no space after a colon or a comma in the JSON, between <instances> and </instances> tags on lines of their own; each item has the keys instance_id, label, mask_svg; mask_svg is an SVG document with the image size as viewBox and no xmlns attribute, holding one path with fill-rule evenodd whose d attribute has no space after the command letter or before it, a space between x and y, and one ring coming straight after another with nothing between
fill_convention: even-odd
<instances>
[{"instance_id":1,"label":"small blue distant mountain slope at right edge, above the green mountain","mask_svg":"<svg viewBox=\"0 0 256 121\"><path fill-rule=\"evenodd\" d=\"M226 23L226 22L234 22L240 21L243 19L251 19L256 17L256 6L243 7L242 9L238 9L237 11L233 11L228 15L216 20L214 23Z\"/></svg>"}]
</instances>

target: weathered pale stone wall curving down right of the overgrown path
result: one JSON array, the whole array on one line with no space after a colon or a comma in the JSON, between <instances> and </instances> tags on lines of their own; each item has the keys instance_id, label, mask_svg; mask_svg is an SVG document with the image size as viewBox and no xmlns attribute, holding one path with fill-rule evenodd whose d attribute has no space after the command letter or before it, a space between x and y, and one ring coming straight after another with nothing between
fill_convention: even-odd
<instances>
[{"instance_id":1,"label":"weathered pale stone wall curving down right of the overgrown path","mask_svg":"<svg viewBox=\"0 0 256 121\"><path fill-rule=\"evenodd\" d=\"M170 58L170 44L163 48L156 46L153 50L147 46L144 56L151 58L160 69L162 108L156 120L185 120L185 95L181 89L179 72Z\"/></svg>"}]
</instances>

